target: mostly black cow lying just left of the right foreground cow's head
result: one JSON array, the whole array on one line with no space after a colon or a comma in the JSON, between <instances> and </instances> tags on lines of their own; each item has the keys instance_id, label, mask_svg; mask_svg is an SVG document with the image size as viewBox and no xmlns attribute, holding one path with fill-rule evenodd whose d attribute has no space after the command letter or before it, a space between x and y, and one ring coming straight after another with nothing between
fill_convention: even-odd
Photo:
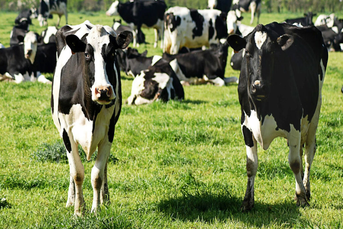
<instances>
[{"instance_id":1,"label":"mostly black cow lying just left of the right foreground cow's head","mask_svg":"<svg viewBox=\"0 0 343 229\"><path fill-rule=\"evenodd\" d=\"M236 77L224 77L228 44L219 44L216 49L196 50L189 53L163 54L170 62L182 84L200 84L211 82L218 86L237 82ZM175 61L176 60L176 61Z\"/></svg>"}]
</instances>

